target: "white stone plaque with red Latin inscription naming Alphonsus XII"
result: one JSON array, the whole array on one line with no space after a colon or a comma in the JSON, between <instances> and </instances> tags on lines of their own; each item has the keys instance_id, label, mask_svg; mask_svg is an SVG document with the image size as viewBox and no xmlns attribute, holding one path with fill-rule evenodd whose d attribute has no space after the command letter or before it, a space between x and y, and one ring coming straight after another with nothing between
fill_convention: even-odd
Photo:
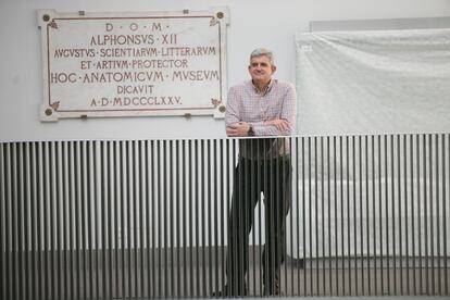
<instances>
[{"instance_id":1,"label":"white stone plaque with red Latin inscription naming Alphonsus XII","mask_svg":"<svg viewBox=\"0 0 450 300\"><path fill-rule=\"evenodd\" d=\"M213 115L226 101L226 8L136 13L37 12L41 121Z\"/></svg>"}]
</instances>

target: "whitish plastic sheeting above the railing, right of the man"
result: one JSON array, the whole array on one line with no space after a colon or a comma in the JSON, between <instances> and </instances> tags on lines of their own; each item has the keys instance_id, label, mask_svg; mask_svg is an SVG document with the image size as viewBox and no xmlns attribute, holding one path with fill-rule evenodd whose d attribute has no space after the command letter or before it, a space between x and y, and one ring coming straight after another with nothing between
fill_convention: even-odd
<instances>
[{"instance_id":1,"label":"whitish plastic sheeting above the railing, right of the man","mask_svg":"<svg viewBox=\"0 0 450 300\"><path fill-rule=\"evenodd\" d=\"M300 34L298 133L450 130L450 29Z\"/></svg>"}]
</instances>

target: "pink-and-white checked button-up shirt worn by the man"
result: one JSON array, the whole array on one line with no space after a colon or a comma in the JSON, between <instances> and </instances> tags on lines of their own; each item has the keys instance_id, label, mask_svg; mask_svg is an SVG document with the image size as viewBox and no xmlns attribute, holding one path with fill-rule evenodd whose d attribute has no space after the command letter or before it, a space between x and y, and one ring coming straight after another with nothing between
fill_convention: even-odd
<instances>
[{"instance_id":1,"label":"pink-and-white checked button-up shirt worn by the man","mask_svg":"<svg viewBox=\"0 0 450 300\"><path fill-rule=\"evenodd\" d=\"M296 89L290 83L272 79L264 92L251 80L232 87L225 112L225 126L247 122L253 126L255 136L289 136L296 126ZM286 130L264 125L265 121L283 118L289 122ZM259 143L257 143L259 141ZM289 139L242 139L239 153L248 159L267 159L289 154Z\"/></svg>"}]
</instances>

